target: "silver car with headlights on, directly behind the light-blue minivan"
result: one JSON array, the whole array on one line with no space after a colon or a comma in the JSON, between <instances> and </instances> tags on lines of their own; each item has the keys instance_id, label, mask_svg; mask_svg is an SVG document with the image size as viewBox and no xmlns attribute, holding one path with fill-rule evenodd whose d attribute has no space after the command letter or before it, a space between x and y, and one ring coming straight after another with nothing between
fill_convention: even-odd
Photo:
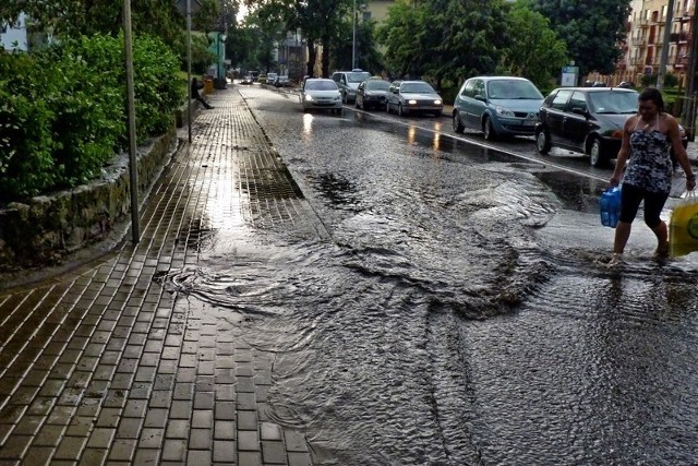
<instances>
[{"instance_id":1,"label":"silver car with headlights on, directly behind the light-blue minivan","mask_svg":"<svg viewBox=\"0 0 698 466\"><path fill-rule=\"evenodd\" d=\"M386 96L386 111L400 116L432 113L441 116L444 101L431 84L424 81L393 81Z\"/></svg>"}]
</instances>

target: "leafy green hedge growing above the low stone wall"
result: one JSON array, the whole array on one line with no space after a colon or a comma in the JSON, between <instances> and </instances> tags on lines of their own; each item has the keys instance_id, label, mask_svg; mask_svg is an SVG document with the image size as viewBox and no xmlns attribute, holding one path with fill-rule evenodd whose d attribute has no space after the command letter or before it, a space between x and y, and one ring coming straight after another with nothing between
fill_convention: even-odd
<instances>
[{"instance_id":1,"label":"leafy green hedge growing above the low stone wall","mask_svg":"<svg viewBox=\"0 0 698 466\"><path fill-rule=\"evenodd\" d=\"M183 98L179 61L160 39L133 45L136 132L161 134ZM123 38L64 39L36 53L0 52L0 196L95 178L127 147ZM185 92L185 91L184 91Z\"/></svg>"}]
</instances>

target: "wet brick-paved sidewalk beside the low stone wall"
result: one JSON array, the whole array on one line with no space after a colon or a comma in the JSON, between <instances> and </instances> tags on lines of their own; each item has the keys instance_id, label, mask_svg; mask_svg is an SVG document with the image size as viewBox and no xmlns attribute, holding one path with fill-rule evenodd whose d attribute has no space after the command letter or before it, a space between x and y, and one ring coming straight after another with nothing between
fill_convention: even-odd
<instances>
[{"instance_id":1,"label":"wet brick-paved sidewalk beside the low stone wall","mask_svg":"<svg viewBox=\"0 0 698 466\"><path fill-rule=\"evenodd\" d=\"M0 291L0 465L313 464L304 433L270 416L273 356L163 285L214 228L312 226L238 91L210 99L139 244Z\"/></svg>"}]
</instances>

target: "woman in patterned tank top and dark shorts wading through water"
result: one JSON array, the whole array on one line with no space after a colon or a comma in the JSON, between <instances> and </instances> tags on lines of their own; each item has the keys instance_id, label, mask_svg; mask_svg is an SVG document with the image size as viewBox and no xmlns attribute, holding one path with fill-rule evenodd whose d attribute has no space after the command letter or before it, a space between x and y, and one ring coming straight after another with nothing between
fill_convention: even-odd
<instances>
[{"instance_id":1,"label":"woman in patterned tank top and dark shorts wading through water","mask_svg":"<svg viewBox=\"0 0 698 466\"><path fill-rule=\"evenodd\" d=\"M612 264L622 259L633 220L642 201L645 224L657 237L654 255L662 259L669 254L669 231L660 214L672 188L672 150L686 172L686 190L691 191L696 188L696 176L681 141L678 122L664 111L662 93L648 87L638 97L638 112L628 118L623 127L623 142L611 177L613 187L623 179Z\"/></svg>"}]
</instances>

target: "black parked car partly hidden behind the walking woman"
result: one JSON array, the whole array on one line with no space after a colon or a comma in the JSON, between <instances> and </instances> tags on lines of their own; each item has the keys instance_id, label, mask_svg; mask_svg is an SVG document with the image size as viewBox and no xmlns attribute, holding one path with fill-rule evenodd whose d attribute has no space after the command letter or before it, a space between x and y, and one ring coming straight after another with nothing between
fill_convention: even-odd
<instances>
[{"instance_id":1,"label":"black parked car partly hidden behind the walking woman","mask_svg":"<svg viewBox=\"0 0 698 466\"><path fill-rule=\"evenodd\" d=\"M637 113L639 94L624 87L559 87L540 108L535 146L541 154L563 147L589 156L594 167L616 157L625 121ZM682 143L688 145L683 127ZM672 158L673 158L672 151Z\"/></svg>"}]
</instances>

